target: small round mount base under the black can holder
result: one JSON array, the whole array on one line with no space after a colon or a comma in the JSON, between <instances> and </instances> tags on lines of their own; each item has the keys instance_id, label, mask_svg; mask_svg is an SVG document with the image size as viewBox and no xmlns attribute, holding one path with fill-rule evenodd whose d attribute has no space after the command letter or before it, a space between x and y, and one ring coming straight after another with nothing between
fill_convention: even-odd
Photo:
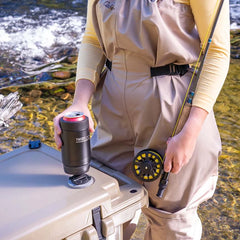
<instances>
[{"instance_id":1,"label":"small round mount base under the black can holder","mask_svg":"<svg viewBox=\"0 0 240 240\"><path fill-rule=\"evenodd\" d=\"M68 185L71 188L86 188L92 185L94 181L94 178L87 174L73 175L72 177L69 177Z\"/></svg>"}]
</instances>

